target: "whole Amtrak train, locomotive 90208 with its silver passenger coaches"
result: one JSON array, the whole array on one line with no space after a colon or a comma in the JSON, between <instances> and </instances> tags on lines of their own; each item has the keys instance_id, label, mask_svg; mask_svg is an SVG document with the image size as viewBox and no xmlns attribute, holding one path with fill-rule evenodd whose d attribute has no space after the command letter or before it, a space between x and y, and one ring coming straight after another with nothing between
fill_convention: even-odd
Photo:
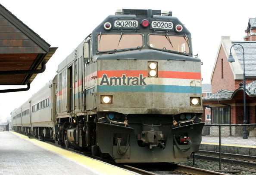
<instances>
[{"instance_id":1,"label":"whole Amtrak train, locomotive 90208 with its silver passenger coaches","mask_svg":"<svg viewBox=\"0 0 256 175\"><path fill-rule=\"evenodd\" d=\"M12 128L116 163L186 161L204 125L191 43L172 12L119 10L12 112Z\"/></svg>"}]
</instances>

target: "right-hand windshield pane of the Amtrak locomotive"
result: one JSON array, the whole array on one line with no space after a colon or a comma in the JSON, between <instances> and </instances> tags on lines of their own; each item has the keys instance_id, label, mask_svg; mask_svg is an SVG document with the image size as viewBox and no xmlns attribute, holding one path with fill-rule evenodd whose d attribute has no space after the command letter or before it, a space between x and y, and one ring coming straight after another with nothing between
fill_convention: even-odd
<instances>
[{"instance_id":1,"label":"right-hand windshield pane of the Amtrak locomotive","mask_svg":"<svg viewBox=\"0 0 256 175\"><path fill-rule=\"evenodd\" d=\"M149 35L149 45L151 48L189 53L186 36Z\"/></svg>"}]
</instances>

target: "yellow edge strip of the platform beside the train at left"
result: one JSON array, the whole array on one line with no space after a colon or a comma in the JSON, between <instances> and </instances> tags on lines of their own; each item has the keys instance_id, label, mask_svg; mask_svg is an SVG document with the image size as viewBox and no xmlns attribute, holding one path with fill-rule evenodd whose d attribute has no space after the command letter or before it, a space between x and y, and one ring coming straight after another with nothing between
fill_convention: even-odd
<instances>
[{"instance_id":1,"label":"yellow edge strip of the platform beside the train at left","mask_svg":"<svg viewBox=\"0 0 256 175\"><path fill-rule=\"evenodd\" d=\"M48 143L39 141L37 139L29 139L27 136L24 136L22 134L10 131L13 134L16 134L17 136L20 136L21 139L26 139L30 142L33 142L36 145L41 146L42 148L45 148L49 151L53 151L54 153L60 154L64 157L67 157L71 160L75 160L78 163L83 164L84 166L87 166L88 168L93 169L95 172L98 172L102 175L134 175L132 172L128 172L124 169L118 168L116 166L112 166L97 160L94 160L90 157L85 157L76 153L73 153L71 151L66 151L62 148L58 148L54 145L50 145Z\"/></svg>"}]
</instances>

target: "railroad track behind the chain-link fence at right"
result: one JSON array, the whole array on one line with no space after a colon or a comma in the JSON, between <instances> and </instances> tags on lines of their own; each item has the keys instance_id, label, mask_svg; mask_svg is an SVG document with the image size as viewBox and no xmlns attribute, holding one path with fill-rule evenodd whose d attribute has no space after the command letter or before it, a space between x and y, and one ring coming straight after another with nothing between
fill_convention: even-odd
<instances>
[{"instance_id":1,"label":"railroad track behind the chain-link fence at right","mask_svg":"<svg viewBox=\"0 0 256 175\"><path fill-rule=\"evenodd\" d=\"M219 162L219 152L200 150L195 154L195 159ZM256 168L256 156L222 153L221 160L222 163Z\"/></svg>"}]
</instances>

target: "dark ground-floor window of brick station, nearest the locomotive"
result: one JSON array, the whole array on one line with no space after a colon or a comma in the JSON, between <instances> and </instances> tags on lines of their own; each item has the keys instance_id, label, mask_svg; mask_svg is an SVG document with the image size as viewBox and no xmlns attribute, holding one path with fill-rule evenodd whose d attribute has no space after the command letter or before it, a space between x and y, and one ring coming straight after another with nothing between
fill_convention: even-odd
<instances>
[{"instance_id":1,"label":"dark ground-floor window of brick station, nearest the locomotive","mask_svg":"<svg viewBox=\"0 0 256 175\"><path fill-rule=\"evenodd\" d=\"M212 121L214 124L230 124L230 107L213 107Z\"/></svg>"}]
</instances>

